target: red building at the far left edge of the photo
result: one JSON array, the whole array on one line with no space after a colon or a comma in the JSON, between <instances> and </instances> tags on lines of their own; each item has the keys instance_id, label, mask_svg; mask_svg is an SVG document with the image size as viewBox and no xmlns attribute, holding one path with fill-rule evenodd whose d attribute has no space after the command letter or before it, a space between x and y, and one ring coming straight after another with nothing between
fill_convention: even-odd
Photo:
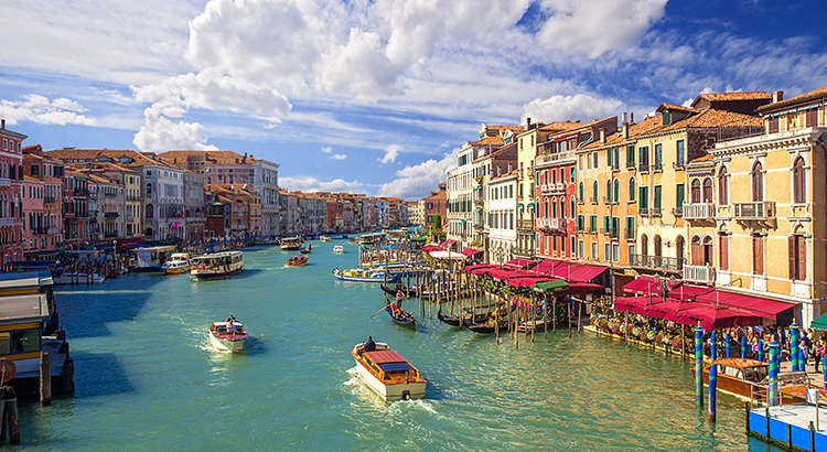
<instances>
[{"instance_id":1,"label":"red building at the far left edge of the photo","mask_svg":"<svg viewBox=\"0 0 827 452\"><path fill-rule=\"evenodd\" d=\"M0 120L0 255L7 263L23 260L23 140L26 136L6 128Z\"/></svg>"}]
</instances>

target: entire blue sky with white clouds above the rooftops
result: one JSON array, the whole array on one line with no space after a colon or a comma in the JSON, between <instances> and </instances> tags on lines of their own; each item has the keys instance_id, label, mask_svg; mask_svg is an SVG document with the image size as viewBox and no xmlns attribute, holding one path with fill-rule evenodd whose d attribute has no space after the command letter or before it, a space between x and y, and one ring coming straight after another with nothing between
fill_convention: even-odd
<instances>
[{"instance_id":1,"label":"entire blue sky with white clouds above the rooftops","mask_svg":"<svg viewBox=\"0 0 827 452\"><path fill-rule=\"evenodd\" d=\"M0 17L0 118L24 146L230 150L280 164L290 191L407 201L481 123L827 86L824 1L26 0Z\"/></svg>"}]
</instances>

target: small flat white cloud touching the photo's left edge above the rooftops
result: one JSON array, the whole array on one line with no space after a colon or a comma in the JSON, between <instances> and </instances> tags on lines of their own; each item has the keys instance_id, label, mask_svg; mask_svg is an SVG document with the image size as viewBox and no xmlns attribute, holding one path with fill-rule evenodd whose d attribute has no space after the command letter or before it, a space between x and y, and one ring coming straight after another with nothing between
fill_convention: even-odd
<instances>
[{"instance_id":1,"label":"small flat white cloud touching the photo's left edge above the rooftops","mask_svg":"<svg viewBox=\"0 0 827 452\"><path fill-rule=\"evenodd\" d=\"M9 125L32 121L57 126L94 126L95 119L80 115L85 111L86 108L80 104L64 97L49 100L46 97L30 94L21 96L18 100L0 100L0 117Z\"/></svg>"}]
</instances>

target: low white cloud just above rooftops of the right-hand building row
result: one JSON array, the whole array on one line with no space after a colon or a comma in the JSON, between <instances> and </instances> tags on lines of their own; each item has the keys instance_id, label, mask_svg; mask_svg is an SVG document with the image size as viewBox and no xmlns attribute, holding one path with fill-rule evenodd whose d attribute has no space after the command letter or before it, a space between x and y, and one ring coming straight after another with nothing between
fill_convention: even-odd
<instances>
[{"instance_id":1,"label":"low white cloud just above rooftops of the right-hand building row","mask_svg":"<svg viewBox=\"0 0 827 452\"><path fill-rule=\"evenodd\" d=\"M523 117L531 118L534 122L551 122L580 119L591 121L593 119L608 118L623 105L616 99L598 99L591 96L578 94L574 96L551 96L548 99L534 99L523 106Z\"/></svg>"}]
</instances>

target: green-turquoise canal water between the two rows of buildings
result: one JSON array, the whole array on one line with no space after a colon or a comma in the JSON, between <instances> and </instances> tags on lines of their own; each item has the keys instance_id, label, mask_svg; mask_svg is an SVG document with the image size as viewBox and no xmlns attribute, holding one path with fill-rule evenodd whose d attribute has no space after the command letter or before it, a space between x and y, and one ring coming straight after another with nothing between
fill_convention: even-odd
<instances>
[{"instance_id":1,"label":"green-turquoise canal water between the two rows of buildings","mask_svg":"<svg viewBox=\"0 0 827 452\"><path fill-rule=\"evenodd\" d=\"M357 250L314 243L308 267L286 268L292 254L248 248L228 280L61 288L77 392L22 403L22 449L774 450L744 435L742 402L721 396L716 423L698 411L679 357L565 329L516 351L436 311L416 331L370 319L378 284L331 276ZM251 334L243 353L210 346L230 314ZM348 348L368 334L421 370L427 399L385 402L357 379Z\"/></svg>"}]
</instances>

